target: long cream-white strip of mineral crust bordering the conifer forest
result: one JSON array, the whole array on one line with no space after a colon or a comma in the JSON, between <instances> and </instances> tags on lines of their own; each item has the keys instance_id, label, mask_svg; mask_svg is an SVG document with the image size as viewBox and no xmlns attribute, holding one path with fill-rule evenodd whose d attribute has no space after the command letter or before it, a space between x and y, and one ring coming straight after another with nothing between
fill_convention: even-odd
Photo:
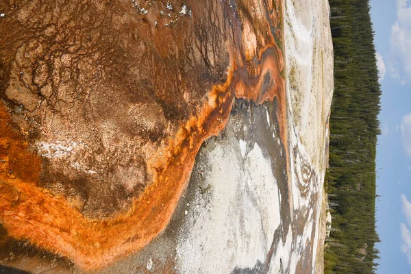
<instances>
[{"instance_id":1,"label":"long cream-white strip of mineral crust bordering the conifer forest","mask_svg":"<svg viewBox=\"0 0 411 274\"><path fill-rule=\"evenodd\" d=\"M309 212L299 247L312 245L312 273L322 273L320 225L327 164L328 119L334 89L333 49L327 0L286 0L285 43L290 134L292 216ZM314 234L312 234L314 230ZM298 248L297 248L298 249ZM293 252L297 252L294 249ZM299 256L302 254L299 253ZM299 257L297 256L297 258ZM322 256L320 256L322 257ZM291 258L296 258L292 254Z\"/></svg>"}]
</instances>

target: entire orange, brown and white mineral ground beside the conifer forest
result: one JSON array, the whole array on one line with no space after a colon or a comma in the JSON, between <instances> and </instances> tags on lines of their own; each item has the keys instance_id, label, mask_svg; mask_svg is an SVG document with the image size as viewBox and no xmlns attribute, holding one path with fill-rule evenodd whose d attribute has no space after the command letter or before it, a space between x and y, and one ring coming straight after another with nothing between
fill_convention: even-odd
<instances>
[{"instance_id":1,"label":"entire orange, brown and white mineral ground beside the conifer forest","mask_svg":"<svg viewBox=\"0 0 411 274\"><path fill-rule=\"evenodd\" d=\"M0 273L321 273L326 0L0 13Z\"/></svg>"}]
</instances>

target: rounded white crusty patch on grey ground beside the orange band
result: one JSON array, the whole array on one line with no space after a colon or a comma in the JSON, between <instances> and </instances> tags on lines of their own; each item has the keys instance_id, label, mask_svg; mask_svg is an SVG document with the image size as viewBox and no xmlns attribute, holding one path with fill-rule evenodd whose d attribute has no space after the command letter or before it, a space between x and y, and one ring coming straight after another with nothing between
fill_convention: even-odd
<instances>
[{"instance_id":1,"label":"rounded white crusty patch on grey ground beside the orange band","mask_svg":"<svg viewBox=\"0 0 411 274\"><path fill-rule=\"evenodd\" d=\"M241 144L229 138L208 153L208 193L197 190L179 235L179 273L253 269L269 253L280 224L272 163L255 143L242 157Z\"/></svg>"}]
</instances>

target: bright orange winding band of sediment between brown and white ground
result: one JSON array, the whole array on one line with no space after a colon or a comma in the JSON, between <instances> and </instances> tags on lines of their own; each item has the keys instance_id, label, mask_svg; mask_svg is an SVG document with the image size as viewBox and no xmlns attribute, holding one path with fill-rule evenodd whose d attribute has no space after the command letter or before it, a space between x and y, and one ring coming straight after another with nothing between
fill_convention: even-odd
<instances>
[{"instance_id":1,"label":"bright orange winding band of sediment between brown and white ground","mask_svg":"<svg viewBox=\"0 0 411 274\"><path fill-rule=\"evenodd\" d=\"M266 9L273 10L272 5L266 3ZM281 25L278 16L272 14L275 12L271 12L270 20L251 22L253 27L261 29L268 25L264 29L269 29ZM250 19L244 10L239 16L242 21ZM12 121L2 107L0 221L8 235L65 256L83 269L107 266L145 247L171 220L201 144L224 129L234 98L258 104L277 98L280 134L288 159L282 51L268 32L258 36L255 54L242 52L240 26L237 27L234 38L226 41L230 57L227 81L214 85L199 112L167 139L168 145L149 158L151 184L134 199L127 212L110 219L86 218L62 195L38 186L41 160L27 149L27 142L12 128ZM282 41L282 37L277 40Z\"/></svg>"}]
</instances>

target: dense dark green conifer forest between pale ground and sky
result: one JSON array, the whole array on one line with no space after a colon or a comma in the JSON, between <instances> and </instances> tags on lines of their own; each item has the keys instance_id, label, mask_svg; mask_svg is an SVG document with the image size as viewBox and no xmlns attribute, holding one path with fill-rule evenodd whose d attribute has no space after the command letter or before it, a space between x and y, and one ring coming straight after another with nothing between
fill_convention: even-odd
<instances>
[{"instance_id":1,"label":"dense dark green conifer forest between pale ground and sky","mask_svg":"<svg viewBox=\"0 0 411 274\"><path fill-rule=\"evenodd\" d=\"M334 99L325 175L332 231L325 273L374 273L378 71L369 0L329 0Z\"/></svg>"}]
</instances>

